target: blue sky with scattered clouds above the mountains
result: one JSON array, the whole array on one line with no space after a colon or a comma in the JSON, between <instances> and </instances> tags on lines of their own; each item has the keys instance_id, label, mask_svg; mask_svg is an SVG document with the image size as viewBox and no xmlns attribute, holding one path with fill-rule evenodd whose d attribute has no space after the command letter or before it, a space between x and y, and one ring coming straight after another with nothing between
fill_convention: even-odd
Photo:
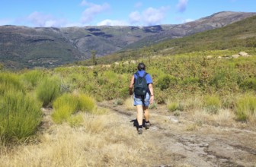
<instances>
[{"instance_id":1,"label":"blue sky with scattered clouds above the mountains","mask_svg":"<svg viewBox=\"0 0 256 167\"><path fill-rule=\"evenodd\" d=\"M219 11L256 12L255 0L1 0L0 25L182 24Z\"/></svg>"}]
</instances>

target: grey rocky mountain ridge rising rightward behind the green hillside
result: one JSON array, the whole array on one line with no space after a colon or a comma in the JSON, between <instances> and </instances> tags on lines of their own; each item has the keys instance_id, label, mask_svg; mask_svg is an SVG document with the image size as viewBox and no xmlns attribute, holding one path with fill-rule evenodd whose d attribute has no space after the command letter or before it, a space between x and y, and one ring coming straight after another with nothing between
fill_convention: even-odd
<instances>
[{"instance_id":1,"label":"grey rocky mountain ridge rising rightward behind the green hillside","mask_svg":"<svg viewBox=\"0 0 256 167\"><path fill-rule=\"evenodd\" d=\"M209 17L203 17L199 20L191 21L186 24L178 24L173 27L166 28L167 30L152 36L146 36L136 43L126 46L124 49L136 49L142 46L149 46L154 43L159 43L166 39L175 39L183 36L189 36L194 33L203 32L205 30L213 30L215 28L224 27L228 24L235 23L238 20L243 20L251 17L256 13L222 11L213 14Z\"/></svg>"}]
</instances>

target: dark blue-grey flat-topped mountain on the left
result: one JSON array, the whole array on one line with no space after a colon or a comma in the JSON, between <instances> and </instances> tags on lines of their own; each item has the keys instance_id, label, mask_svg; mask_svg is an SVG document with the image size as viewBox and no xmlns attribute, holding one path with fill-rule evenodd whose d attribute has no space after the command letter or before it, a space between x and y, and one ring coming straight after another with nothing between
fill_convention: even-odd
<instances>
[{"instance_id":1,"label":"dark blue-grey flat-topped mountain on the left","mask_svg":"<svg viewBox=\"0 0 256 167\"><path fill-rule=\"evenodd\" d=\"M168 26L171 27L171 26ZM0 27L0 61L8 67L51 67L123 49L162 31L152 27Z\"/></svg>"}]
</instances>

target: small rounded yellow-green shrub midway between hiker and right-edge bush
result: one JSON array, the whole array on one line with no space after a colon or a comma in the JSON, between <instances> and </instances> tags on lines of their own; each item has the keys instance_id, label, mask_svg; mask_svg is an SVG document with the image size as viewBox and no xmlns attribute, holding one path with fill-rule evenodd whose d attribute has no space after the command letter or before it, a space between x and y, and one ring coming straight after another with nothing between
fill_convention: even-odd
<instances>
[{"instance_id":1,"label":"small rounded yellow-green shrub midway between hiker and right-edge bush","mask_svg":"<svg viewBox=\"0 0 256 167\"><path fill-rule=\"evenodd\" d=\"M207 112L210 112L211 114L216 114L217 112L219 112L221 102L218 96L205 96L203 106Z\"/></svg>"}]
</instances>

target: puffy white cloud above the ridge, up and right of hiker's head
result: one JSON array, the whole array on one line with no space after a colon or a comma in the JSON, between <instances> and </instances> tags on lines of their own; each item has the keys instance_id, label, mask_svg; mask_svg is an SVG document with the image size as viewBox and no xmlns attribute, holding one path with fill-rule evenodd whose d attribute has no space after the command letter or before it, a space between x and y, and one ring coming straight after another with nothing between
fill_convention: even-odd
<instances>
[{"instance_id":1,"label":"puffy white cloud above the ridge, up and right of hiker's head","mask_svg":"<svg viewBox=\"0 0 256 167\"><path fill-rule=\"evenodd\" d=\"M142 24L146 26L161 24L169 7L147 8L145 11L133 11L130 13L131 24Z\"/></svg>"}]
</instances>

